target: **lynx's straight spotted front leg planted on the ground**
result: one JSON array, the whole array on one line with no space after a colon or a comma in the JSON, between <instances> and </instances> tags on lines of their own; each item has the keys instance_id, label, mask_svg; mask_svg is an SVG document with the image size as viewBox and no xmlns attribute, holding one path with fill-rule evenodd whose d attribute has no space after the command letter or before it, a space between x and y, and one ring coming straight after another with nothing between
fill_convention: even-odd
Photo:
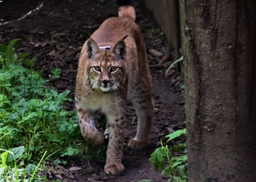
<instances>
[{"instance_id":1,"label":"lynx's straight spotted front leg planted on the ground","mask_svg":"<svg viewBox=\"0 0 256 182\"><path fill-rule=\"evenodd\" d=\"M118 114L118 113L117 113ZM124 141L124 127L125 116L109 116L108 115L108 150L107 160L104 166L104 171L107 174L118 175L124 171L122 165L123 141Z\"/></svg>"}]
</instances>

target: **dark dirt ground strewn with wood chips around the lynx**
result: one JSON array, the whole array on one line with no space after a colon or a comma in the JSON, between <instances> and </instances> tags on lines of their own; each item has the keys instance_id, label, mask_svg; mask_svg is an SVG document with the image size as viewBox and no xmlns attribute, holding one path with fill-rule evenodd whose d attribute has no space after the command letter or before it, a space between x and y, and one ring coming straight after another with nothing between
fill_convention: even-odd
<instances>
[{"instance_id":1,"label":"dark dirt ground strewn with wood chips around the lynx","mask_svg":"<svg viewBox=\"0 0 256 182\"><path fill-rule=\"evenodd\" d=\"M161 28L150 18L138 1L132 2L147 47L169 53L161 35ZM37 8L37 9L36 9ZM26 15L33 10L29 15ZM82 44L90 34L108 17L117 16L116 0L3 0L0 3L0 40L7 43L21 38L18 51L36 57L36 68L50 76L52 69L61 68L61 77L52 85L60 92L71 90L74 97L75 77ZM21 18L19 20L19 18ZM150 144L140 151L124 149L123 165L126 170L121 176L106 175L104 161L77 159L67 166L57 166L48 171L49 181L63 179L65 182L138 182L152 179L166 182L167 178L154 172L148 161L158 142L172 131L185 127L184 96L180 88L182 81L175 70L165 78L171 59L159 65L159 59L148 54L152 74L155 118ZM74 109L74 103L69 105ZM127 106L125 143L136 133L137 117L133 106ZM172 143L170 143L172 144Z\"/></svg>"}]
</instances>

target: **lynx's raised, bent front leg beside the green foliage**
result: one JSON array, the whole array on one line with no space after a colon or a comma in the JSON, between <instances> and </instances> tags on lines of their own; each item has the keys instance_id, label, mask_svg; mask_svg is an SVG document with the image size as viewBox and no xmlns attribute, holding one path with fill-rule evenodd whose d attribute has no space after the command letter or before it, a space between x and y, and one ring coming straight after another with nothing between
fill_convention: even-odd
<instances>
[{"instance_id":1,"label":"lynx's raised, bent front leg beside the green foliage","mask_svg":"<svg viewBox=\"0 0 256 182\"><path fill-rule=\"evenodd\" d=\"M88 111L77 108L77 112L83 138L96 146L102 144L104 142L104 135L95 127L95 123L89 117Z\"/></svg>"}]
</instances>

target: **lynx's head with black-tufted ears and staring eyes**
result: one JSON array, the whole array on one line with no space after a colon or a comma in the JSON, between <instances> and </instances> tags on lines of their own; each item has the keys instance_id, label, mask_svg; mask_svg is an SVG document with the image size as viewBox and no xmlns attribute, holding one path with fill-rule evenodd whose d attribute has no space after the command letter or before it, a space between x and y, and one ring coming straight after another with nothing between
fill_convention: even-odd
<instances>
[{"instance_id":1,"label":"lynx's head with black-tufted ears and staring eyes","mask_svg":"<svg viewBox=\"0 0 256 182\"><path fill-rule=\"evenodd\" d=\"M123 40L111 50L100 50L89 38L86 43L86 79L92 89L115 92L123 88L126 80L126 45Z\"/></svg>"}]
</instances>

